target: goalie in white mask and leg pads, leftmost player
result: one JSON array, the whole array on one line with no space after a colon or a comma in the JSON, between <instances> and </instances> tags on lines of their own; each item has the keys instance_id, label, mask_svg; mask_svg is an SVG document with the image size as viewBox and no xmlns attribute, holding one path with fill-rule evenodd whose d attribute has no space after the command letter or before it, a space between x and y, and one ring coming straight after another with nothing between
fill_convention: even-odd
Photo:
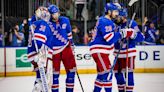
<instances>
[{"instance_id":1,"label":"goalie in white mask and leg pads, leftmost player","mask_svg":"<svg viewBox=\"0 0 164 92\"><path fill-rule=\"evenodd\" d=\"M46 63L47 58L44 58L44 56L46 55L46 52L48 52L47 50L49 50L49 53L52 53L51 41L53 35L48 25L50 19L48 9L45 7L39 7L35 12L35 16L37 17L37 20L31 22L32 40L28 45L28 60L33 64L34 71L36 72L33 92L41 92L43 90L37 63L39 58L43 58L45 61L43 63ZM39 53L37 51L39 51ZM51 58L50 54L48 56Z\"/></svg>"}]
</instances>

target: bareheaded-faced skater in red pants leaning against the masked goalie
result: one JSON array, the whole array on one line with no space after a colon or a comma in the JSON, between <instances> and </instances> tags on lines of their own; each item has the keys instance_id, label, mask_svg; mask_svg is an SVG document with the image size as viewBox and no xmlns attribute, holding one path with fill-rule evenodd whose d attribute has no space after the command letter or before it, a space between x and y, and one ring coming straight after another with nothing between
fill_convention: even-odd
<instances>
[{"instance_id":1,"label":"bareheaded-faced skater in red pants leaning against the masked goalie","mask_svg":"<svg viewBox=\"0 0 164 92\"><path fill-rule=\"evenodd\" d=\"M53 85L52 92L59 92L59 75L61 61L66 69L66 92L73 92L76 73L76 63L71 46L72 32L70 21L67 17L60 16L59 8L55 5L48 7L51 13L51 30L53 31Z\"/></svg>"}]
</instances>

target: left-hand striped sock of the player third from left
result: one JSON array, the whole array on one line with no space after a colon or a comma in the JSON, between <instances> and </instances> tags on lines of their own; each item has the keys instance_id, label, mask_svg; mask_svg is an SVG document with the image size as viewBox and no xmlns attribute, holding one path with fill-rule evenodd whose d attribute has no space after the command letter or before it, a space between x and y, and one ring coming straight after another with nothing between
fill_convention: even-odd
<instances>
[{"instance_id":1,"label":"left-hand striped sock of the player third from left","mask_svg":"<svg viewBox=\"0 0 164 92\"><path fill-rule=\"evenodd\" d=\"M95 80L95 86L93 92L100 92L103 87L102 75L98 74Z\"/></svg>"}]
</instances>

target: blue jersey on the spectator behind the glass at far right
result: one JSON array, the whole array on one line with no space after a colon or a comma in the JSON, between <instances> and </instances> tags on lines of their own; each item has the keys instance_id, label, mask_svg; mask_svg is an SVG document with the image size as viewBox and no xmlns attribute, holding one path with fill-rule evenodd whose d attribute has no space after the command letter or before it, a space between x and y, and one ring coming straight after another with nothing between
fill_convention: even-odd
<instances>
[{"instance_id":1,"label":"blue jersey on the spectator behind the glass at far right","mask_svg":"<svg viewBox=\"0 0 164 92\"><path fill-rule=\"evenodd\" d=\"M156 44L156 39L158 39L158 35L156 35L157 30L155 28L145 27L145 41L144 43L147 45Z\"/></svg>"}]
</instances>

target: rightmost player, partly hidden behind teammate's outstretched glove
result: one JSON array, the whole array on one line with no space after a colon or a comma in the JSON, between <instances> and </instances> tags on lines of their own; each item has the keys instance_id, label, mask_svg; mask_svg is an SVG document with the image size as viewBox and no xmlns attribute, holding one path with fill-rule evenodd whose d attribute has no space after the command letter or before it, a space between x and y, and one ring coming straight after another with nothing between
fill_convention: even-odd
<instances>
[{"instance_id":1,"label":"rightmost player, partly hidden behind teammate's outstretched glove","mask_svg":"<svg viewBox=\"0 0 164 92\"><path fill-rule=\"evenodd\" d=\"M121 29L126 28L129 26L131 20L127 19L127 9L124 8L120 11L120 27ZM128 23L127 23L128 22ZM128 25L127 25L128 24ZM116 56L120 50L120 53L118 55L118 59L116 62L116 65L114 67L114 73L117 80L118 90L119 92L133 92L134 87L134 61L136 57L136 43L141 42L144 40L143 34L140 32L137 23L133 20L132 24L129 28L130 30L133 30L134 34L129 37L129 44L127 44L127 39L123 39L122 41L117 41L115 43L115 51L114 55ZM127 48L128 45L128 48ZM121 46L121 47L120 47ZM128 51L128 52L127 52ZM127 57L128 56L128 57ZM126 65L126 60L128 58L128 65ZM125 81L125 71L126 66L128 66L128 85L126 86Z\"/></svg>"}]
</instances>

